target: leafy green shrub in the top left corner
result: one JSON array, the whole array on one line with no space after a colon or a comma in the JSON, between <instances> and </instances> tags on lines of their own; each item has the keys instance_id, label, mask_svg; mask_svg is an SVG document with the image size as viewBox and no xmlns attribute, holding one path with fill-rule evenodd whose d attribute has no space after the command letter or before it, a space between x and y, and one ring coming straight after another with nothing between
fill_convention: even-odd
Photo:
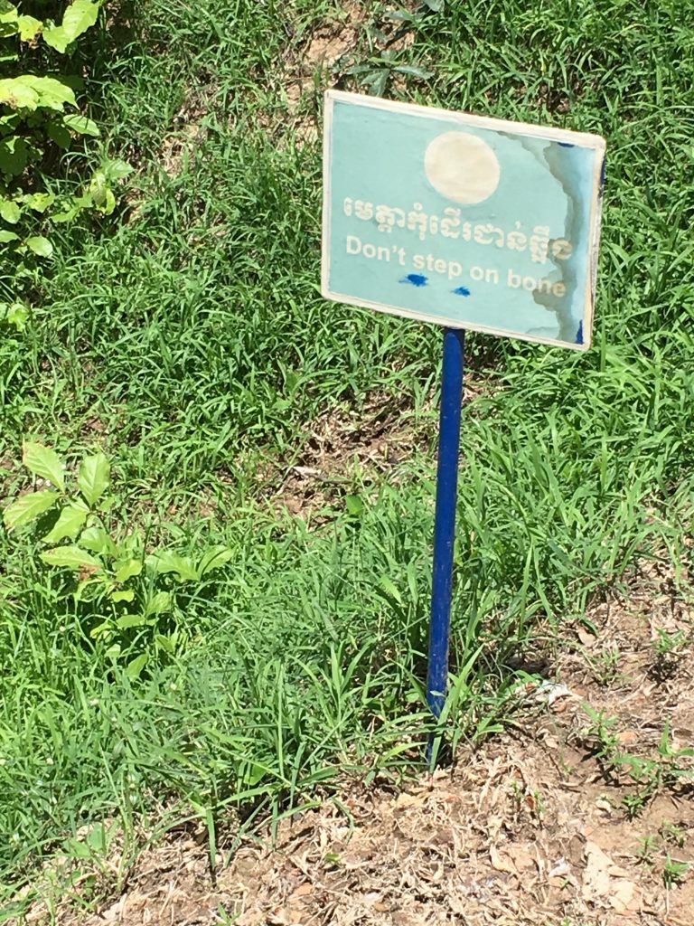
<instances>
[{"instance_id":1,"label":"leafy green shrub in the top left corner","mask_svg":"<svg viewBox=\"0 0 694 926\"><path fill-rule=\"evenodd\" d=\"M99 16L101 0L61 4L62 18L36 19L21 4L0 0L0 255L10 266L0 274L0 322L21 329L42 262L53 254L50 227L82 210L105 215L116 206L114 187L127 176L123 161L103 158L77 195L56 184L56 152L67 152L81 136L98 138L99 127L79 112L69 77L26 72L40 45L70 56L81 35ZM52 53L49 53L49 55ZM43 65L51 57L41 57ZM4 72L10 71L10 76ZM86 169L85 169L86 172ZM6 259L3 261L6 263Z\"/></svg>"}]
</instances>

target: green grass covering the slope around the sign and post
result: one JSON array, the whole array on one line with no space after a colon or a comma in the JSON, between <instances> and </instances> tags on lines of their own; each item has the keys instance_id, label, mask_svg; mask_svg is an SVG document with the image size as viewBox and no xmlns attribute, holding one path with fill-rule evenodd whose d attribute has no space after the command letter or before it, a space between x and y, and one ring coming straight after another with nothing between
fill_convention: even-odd
<instances>
[{"instance_id":1,"label":"green grass covering the slope around the sign and post","mask_svg":"<svg viewBox=\"0 0 694 926\"><path fill-rule=\"evenodd\" d=\"M136 846L162 814L277 816L343 772L418 761L433 452L398 485L348 474L361 513L337 495L318 530L273 512L258 476L316 416L376 392L434 422L440 332L318 293L319 144L285 71L342 7L147 0L115 47L95 41L100 119L136 179L121 217L63 232L31 325L4 333L6 495L26 482L23 438L73 461L98 444L120 530L234 557L180 607L186 649L130 682L31 537L0 536L5 899L84 824L115 818ZM681 3L451 3L405 20L397 60L432 76L398 82L374 38L396 6L360 8L370 31L338 71L367 61L403 99L609 144L593 349L468 339L472 375L495 377L465 414L456 548L450 720L475 737L540 622L584 618L637 557L690 560L694 31Z\"/></svg>"}]
</instances>

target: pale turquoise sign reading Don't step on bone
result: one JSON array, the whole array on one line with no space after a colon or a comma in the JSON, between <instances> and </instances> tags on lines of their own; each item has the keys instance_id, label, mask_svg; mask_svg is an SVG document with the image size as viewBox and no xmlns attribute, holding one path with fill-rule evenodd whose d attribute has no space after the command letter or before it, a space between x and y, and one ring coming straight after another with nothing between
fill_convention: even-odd
<instances>
[{"instance_id":1,"label":"pale turquoise sign reading Don't step on bone","mask_svg":"<svg viewBox=\"0 0 694 926\"><path fill-rule=\"evenodd\" d=\"M328 91L322 292L586 350L598 135Z\"/></svg>"}]
</instances>

